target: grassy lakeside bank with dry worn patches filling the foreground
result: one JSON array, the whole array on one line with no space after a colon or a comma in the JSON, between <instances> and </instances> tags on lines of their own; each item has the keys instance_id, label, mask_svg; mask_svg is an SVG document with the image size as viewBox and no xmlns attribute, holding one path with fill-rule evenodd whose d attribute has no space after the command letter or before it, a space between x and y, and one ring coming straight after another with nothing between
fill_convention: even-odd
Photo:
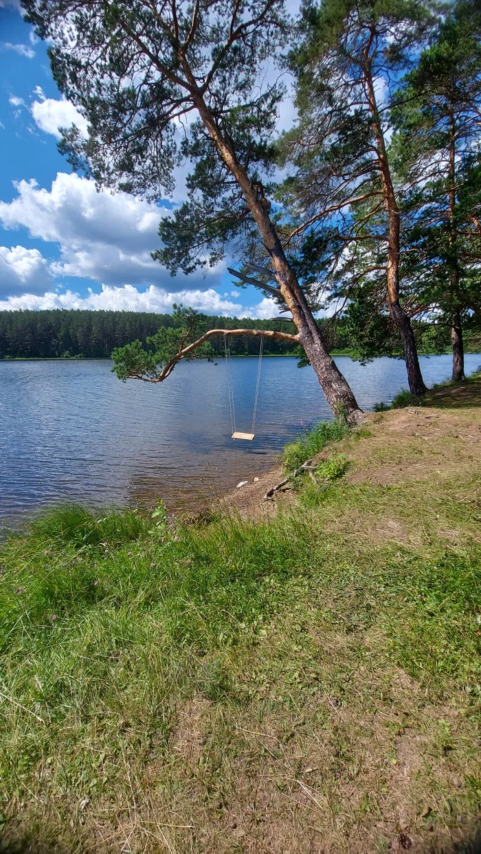
<instances>
[{"instance_id":1,"label":"grassy lakeside bank with dry worn patches filling the foreground","mask_svg":"<svg viewBox=\"0 0 481 854\"><path fill-rule=\"evenodd\" d=\"M470 837L481 382L428 402L327 446L347 477L306 478L270 521L67 509L4 544L6 850Z\"/></svg>"}]
</instances>

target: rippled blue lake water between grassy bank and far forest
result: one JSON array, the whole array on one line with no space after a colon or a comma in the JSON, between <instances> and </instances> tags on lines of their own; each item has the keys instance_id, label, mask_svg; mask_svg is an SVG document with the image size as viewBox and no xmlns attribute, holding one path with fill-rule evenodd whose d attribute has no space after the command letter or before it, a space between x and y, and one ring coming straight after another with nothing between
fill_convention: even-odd
<instances>
[{"instance_id":1,"label":"rippled blue lake water between grassy bank and far forest","mask_svg":"<svg viewBox=\"0 0 481 854\"><path fill-rule=\"evenodd\" d=\"M360 405L407 386L404 363L336 359ZM425 383L449 377L449 355L421 358ZM481 355L466 355L466 372ZM172 509L267 469L302 425L331 418L314 371L262 361L254 442L233 442L226 365L180 364L165 383L120 383L107 360L0 362L0 520L59 500ZM232 360L238 430L250 431L256 359Z\"/></svg>"}]
</instances>

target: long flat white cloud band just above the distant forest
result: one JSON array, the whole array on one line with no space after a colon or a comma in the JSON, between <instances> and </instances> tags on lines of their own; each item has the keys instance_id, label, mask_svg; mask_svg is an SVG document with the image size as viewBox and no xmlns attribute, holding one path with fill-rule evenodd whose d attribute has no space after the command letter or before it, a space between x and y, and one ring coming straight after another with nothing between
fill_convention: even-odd
<instances>
[{"instance_id":1,"label":"long flat white cloud band just above the distant forest","mask_svg":"<svg viewBox=\"0 0 481 854\"><path fill-rule=\"evenodd\" d=\"M19 308L88 308L95 311L102 308L107 311L165 313L172 311L174 302L182 302L200 311L226 317L243 313L242 306L222 299L212 288L171 292L150 285L147 290L140 291L131 284L122 287L103 285L100 293L89 290L89 294L85 297L73 290L66 290L63 293L50 291L44 295L29 293L9 296L8 299L0 301L0 311L14 311Z\"/></svg>"}]
</instances>

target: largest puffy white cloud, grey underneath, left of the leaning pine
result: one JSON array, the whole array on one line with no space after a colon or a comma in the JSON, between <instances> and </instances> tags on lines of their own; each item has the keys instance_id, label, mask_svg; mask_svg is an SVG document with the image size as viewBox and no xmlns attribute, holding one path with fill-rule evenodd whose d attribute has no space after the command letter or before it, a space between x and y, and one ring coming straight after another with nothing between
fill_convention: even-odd
<instances>
[{"instance_id":1,"label":"largest puffy white cloud, grey underneath, left of the leaning pine","mask_svg":"<svg viewBox=\"0 0 481 854\"><path fill-rule=\"evenodd\" d=\"M126 193L97 192L92 181L74 173L58 173L50 190L35 181L21 181L15 189L12 202L0 202L0 222L5 228L23 226L31 237L57 243L60 259L50 268L55 276L168 289L172 279L150 257L159 246L159 220L167 208ZM208 271L206 287L218 283L222 269ZM179 290L199 288L203 281L202 273L176 278Z\"/></svg>"}]
</instances>

